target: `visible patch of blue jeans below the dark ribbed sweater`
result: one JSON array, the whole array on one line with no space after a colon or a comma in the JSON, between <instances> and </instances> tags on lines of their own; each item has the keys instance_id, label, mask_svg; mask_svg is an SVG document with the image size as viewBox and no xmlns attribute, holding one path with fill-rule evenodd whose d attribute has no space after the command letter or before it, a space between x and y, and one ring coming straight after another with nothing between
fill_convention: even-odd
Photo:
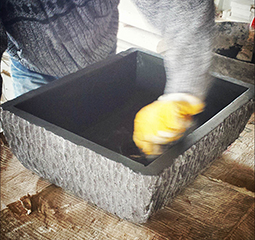
<instances>
[{"instance_id":1,"label":"visible patch of blue jeans below the dark ribbed sweater","mask_svg":"<svg viewBox=\"0 0 255 240\"><path fill-rule=\"evenodd\" d=\"M33 72L14 59L11 59L11 75L15 97L57 79L57 77Z\"/></svg>"}]
</instances>

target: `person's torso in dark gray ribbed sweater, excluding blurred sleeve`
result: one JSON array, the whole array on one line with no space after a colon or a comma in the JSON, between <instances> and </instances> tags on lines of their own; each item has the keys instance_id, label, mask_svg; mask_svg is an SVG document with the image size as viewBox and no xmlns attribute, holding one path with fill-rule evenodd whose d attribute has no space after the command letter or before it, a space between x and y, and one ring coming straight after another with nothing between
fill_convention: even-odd
<instances>
[{"instance_id":1,"label":"person's torso in dark gray ribbed sweater, excluding blurred sleeve","mask_svg":"<svg viewBox=\"0 0 255 240\"><path fill-rule=\"evenodd\" d=\"M2 0L8 53L30 70L64 76L116 47L119 0Z\"/></svg>"}]
</instances>

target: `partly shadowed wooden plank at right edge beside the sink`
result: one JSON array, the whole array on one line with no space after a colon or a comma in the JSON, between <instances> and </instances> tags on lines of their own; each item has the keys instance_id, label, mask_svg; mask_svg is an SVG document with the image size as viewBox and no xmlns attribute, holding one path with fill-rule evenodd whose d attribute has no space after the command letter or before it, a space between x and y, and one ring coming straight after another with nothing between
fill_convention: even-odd
<instances>
[{"instance_id":1,"label":"partly shadowed wooden plank at right edge beside the sink","mask_svg":"<svg viewBox=\"0 0 255 240\"><path fill-rule=\"evenodd\" d=\"M205 176L255 192L254 114L240 137L204 173Z\"/></svg>"}]
</instances>

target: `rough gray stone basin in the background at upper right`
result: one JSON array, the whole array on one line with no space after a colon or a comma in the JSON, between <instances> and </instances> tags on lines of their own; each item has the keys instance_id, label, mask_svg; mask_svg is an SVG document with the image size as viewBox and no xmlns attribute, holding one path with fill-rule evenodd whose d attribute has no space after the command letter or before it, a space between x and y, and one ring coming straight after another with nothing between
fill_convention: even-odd
<instances>
[{"instance_id":1,"label":"rough gray stone basin in the background at upper right","mask_svg":"<svg viewBox=\"0 0 255 240\"><path fill-rule=\"evenodd\" d=\"M249 24L241 22L216 23L212 72L247 83L255 83L255 54L251 61L236 58L249 35Z\"/></svg>"}]
</instances>

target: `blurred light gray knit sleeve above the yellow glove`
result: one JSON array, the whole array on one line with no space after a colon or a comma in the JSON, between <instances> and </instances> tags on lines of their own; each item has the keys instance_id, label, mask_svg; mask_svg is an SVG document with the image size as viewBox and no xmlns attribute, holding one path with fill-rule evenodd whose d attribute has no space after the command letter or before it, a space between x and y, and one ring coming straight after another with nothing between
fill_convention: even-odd
<instances>
[{"instance_id":1,"label":"blurred light gray knit sleeve above the yellow glove","mask_svg":"<svg viewBox=\"0 0 255 240\"><path fill-rule=\"evenodd\" d=\"M165 38L165 93L188 92L204 99L211 83L213 0L133 0Z\"/></svg>"}]
</instances>

